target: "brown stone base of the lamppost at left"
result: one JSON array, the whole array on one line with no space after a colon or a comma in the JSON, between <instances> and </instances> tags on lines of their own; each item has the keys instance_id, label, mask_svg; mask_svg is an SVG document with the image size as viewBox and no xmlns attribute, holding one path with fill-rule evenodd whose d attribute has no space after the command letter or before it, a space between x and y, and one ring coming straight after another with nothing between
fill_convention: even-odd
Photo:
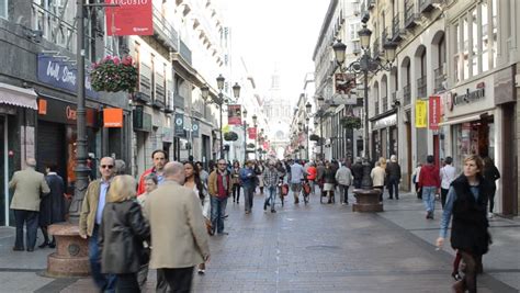
<instances>
[{"instance_id":1,"label":"brown stone base of the lamppost at left","mask_svg":"<svg viewBox=\"0 0 520 293\"><path fill-rule=\"evenodd\" d=\"M56 238L56 252L47 257L46 275L54 278L90 274L89 241L79 236L77 224L54 224L48 233Z\"/></svg>"}]
</instances>

